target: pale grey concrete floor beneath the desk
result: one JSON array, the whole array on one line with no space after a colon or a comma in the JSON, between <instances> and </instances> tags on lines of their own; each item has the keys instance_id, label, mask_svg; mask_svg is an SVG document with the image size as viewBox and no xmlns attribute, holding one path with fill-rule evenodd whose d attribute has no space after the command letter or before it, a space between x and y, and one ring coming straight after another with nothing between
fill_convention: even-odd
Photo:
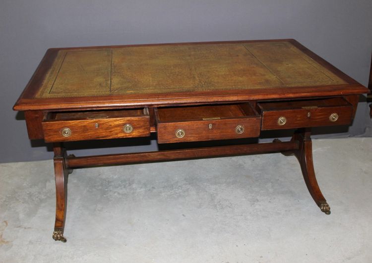
<instances>
[{"instance_id":1,"label":"pale grey concrete floor beneath the desk","mask_svg":"<svg viewBox=\"0 0 372 263\"><path fill-rule=\"evenodd\" d=\"M0 262L372 262L372 138L314 140L331 215L295 157L75 170L67 243L52 240L52 161L0 165Z\"/></svg>"}]
</instances>

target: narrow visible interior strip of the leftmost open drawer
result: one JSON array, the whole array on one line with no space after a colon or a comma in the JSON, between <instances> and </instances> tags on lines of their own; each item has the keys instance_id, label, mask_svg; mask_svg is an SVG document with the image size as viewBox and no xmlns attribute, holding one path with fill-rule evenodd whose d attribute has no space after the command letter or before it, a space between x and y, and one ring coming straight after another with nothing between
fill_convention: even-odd
<instances>
[{"instance_id":1,"label":"narrow visible interior strip of the leftmost open drawer","mask_svg":"<svg viewBox=\"0 0 372 263\"><path fill-rule=\"evenodd\" d=\"M44 120L68 121L148 116L148 108L49 112Z\"/></svg>"}]
</instances>

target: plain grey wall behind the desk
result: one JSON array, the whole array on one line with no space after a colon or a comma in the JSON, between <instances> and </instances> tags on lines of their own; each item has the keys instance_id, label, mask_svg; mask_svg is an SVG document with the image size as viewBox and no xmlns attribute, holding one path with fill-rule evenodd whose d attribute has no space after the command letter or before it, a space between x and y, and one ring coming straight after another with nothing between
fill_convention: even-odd
<instances>
[{"instance_id":1,"label":"plain grey wall behind the desk","mask_svg":"<svg viewBox=\"0 0 372 263\"><path fill-rule=\"evenodd\" d=\"M28 140L11 109L50 47L295 38L367 85L371 14L371 0L1 0L0 162L52 157L45 144ZM343 135L363 134L367 111L360 103ZM137 149L156 148L145 143Z\"/></svg>"}]
</instances>

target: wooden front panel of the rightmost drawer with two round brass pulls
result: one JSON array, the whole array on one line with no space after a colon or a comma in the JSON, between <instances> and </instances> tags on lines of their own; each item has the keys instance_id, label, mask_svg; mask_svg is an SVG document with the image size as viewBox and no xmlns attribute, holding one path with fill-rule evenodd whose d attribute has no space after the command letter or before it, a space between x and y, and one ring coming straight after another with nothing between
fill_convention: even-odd
<instances>
[{"instance_id":1,"label":"wooden front panel of the rightmost drawer with two round brass pulls","mask_svg":"<svg viewBox=\"0 0 372 263\"><path fill-rule=\"evenodd\" d=\"M262 130L348 125L352 122L352 115L351 105L263 111Z\"/></svg>"}]
</instances>

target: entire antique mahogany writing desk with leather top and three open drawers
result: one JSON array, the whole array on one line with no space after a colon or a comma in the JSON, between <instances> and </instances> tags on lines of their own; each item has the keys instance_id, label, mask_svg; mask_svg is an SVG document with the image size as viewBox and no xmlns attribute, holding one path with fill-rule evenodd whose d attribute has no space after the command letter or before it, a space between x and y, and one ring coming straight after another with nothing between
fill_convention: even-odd
<instances>
[{"instance_id":1,"label":"entire antique mahogany writing desk with leather top and three open drawers","mask_svg":"<svg viewBox=\"0 0 372 263\"><path fill-rule=\"evenodd\" d=\"M293 39L49 49L14 105L30 139L52 142L55 240L63 237L73 168L282 152L295 155L320 210L310 128L349 125L368 89ZM158 143L259 137L293 129L291 141L88 157L66 141L157 134Z\"/></svg>"}]
</instances>

